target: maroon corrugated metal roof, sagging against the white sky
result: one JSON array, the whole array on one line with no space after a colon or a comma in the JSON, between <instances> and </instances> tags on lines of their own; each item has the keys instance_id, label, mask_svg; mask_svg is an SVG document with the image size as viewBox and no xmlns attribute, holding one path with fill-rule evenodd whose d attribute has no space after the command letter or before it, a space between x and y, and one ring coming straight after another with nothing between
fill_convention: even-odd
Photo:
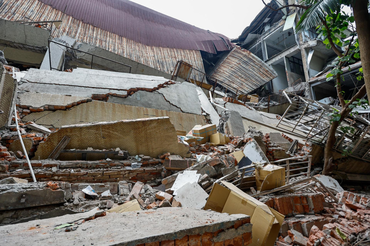
<instances>
[{"instance_id":1,"label":"maroon corrugated metal roof, sagging against the white sky","mask_svg":"<svg viewBox=\"0 0 370 246\"><path fill-rule=\"evenodd\" d=\"M40 0L73 18L142 44L210 53L230 50L228 37L128 0Z\"/></svg>"}]
</instances>

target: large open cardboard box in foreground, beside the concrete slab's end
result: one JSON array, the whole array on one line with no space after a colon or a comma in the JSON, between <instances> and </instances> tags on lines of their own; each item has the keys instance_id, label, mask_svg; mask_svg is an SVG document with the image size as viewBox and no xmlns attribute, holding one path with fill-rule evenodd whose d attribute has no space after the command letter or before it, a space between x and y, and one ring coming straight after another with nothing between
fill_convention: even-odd
<instances>
[{"instance_id":1,"label":"large open cardboard box in foreground, beside the concrete slab's end","mask_svg":"<svg viewBox=\"0 0 370 246\"><path fill-rule=\"evenodd\" d=\"M213 185L204 209L220 213L249 215L250 223L252 223L252 243L250 245L273 246L285 216L244 193L235 185L225 181L221 182L225 187L216 183Z\"/></svg>"}]
</instances>

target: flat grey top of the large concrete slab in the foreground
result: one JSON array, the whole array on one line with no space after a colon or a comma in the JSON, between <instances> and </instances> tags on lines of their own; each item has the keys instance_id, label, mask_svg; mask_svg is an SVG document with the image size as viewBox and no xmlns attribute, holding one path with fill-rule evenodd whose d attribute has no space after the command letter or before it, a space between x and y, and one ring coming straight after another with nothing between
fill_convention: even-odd
<instances>
[{"instance_id":1,"label":"flat grey top of the large concrete slab in the foreground","mask_svg":"<svg viewBox=\"0 0 370 246\"><path fill-rule=\"evenodd\" d=\"M249 218L242 214L228 215L193 208L158 208L139 213L107 213L106 216L78 225L77 230L71 232L64 232L64 229L54 230L55 226L76 222L90 213L94 215L98 212L89 211L1 226L0 242L2 246L14 245L14 242L22 246L50 246L55 245L56 242L59 246L92 244L135 246L142 243L181 239L186 235L202 235L220 229L225 230L223 233L228 236L229 233L231 235L235 233L235 229L227 229L235 225L236 221ZM241 228L245 226L249 228L243 228L245 232L250 232L251 224L245 224Z\"/></svg>"}]
</instances>

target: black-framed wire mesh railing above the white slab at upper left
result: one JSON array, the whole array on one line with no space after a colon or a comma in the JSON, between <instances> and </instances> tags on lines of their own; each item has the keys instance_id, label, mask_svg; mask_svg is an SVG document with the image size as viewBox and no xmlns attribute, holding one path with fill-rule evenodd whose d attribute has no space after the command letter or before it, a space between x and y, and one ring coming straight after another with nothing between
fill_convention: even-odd
<instances>
[{"instance_id":1,"label":"black-framed wire mesh railing above the white slab at upper left","mask_svg":"<svg viewBox=\"0 0 370 246\"><path fill-rule=\"evenodd\" d=\"M65 71L74 68L90 68L112 72L131 73L131 66L98 55L90 54L49 41L50 70Z\"/></svg>"}]
</instances>

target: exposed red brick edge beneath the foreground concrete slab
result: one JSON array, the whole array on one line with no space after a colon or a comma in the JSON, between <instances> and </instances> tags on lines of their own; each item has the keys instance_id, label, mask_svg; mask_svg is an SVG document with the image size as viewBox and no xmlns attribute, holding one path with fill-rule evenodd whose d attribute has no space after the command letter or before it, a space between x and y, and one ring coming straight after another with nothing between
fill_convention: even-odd
<instances>
[{"instance_id":1,"label":"exposed red brick edge beneath the foreground concrete slab","mask_svg":"<svg viewBox=\"0 0 370 246\"><path fill-rule=\"evenodd\" d=\"M243 231L237 230L242 225L249 226L245 226L246 229ZM228 230L232 231L228 232ZM229 235L222 235L222 233ZM245 246L250 243L252 243L252 225L248 218L237 221L228 229L220 229L216 232L204 232L198 235L186 235L183 238L176 238L174 240L143 243L137 246Z\"/></svg>"}]
</instances>

